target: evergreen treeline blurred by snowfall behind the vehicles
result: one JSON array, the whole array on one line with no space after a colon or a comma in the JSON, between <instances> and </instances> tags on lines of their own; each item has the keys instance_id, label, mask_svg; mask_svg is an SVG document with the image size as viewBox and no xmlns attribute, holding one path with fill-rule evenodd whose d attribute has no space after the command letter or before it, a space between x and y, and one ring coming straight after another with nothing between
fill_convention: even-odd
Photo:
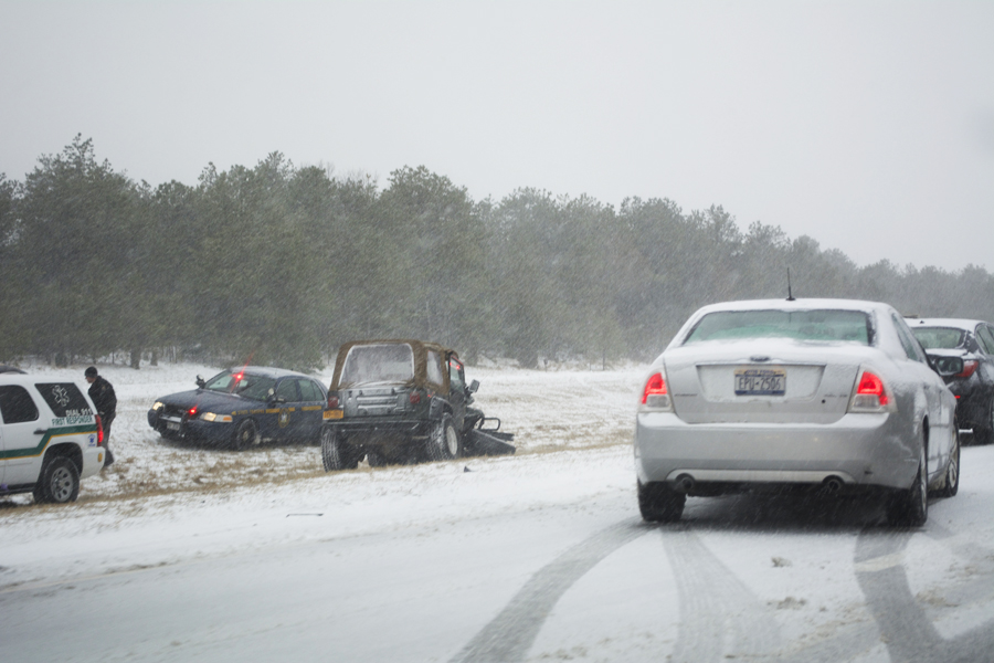
<instances>
[{"instance_id":1,"label":"evergreen treeline blurred by snowfall behind the vehicles","mask_svg":"<svg viewBox=\"0 0 994 663\"><path fill-rule=\"evenodd\" d=\"M704 304L785 296L789 266L795 296L994 319L983 269L858 267L776 227L743 233L721 207L535 189L474 201L424 167L381 189L278 152L151 188L77 136L23 182L0 176L0 359L129 351L137 367L179 349L307 369L374 337L470 362L648 359Z\"/></svg>"}]
</instances>

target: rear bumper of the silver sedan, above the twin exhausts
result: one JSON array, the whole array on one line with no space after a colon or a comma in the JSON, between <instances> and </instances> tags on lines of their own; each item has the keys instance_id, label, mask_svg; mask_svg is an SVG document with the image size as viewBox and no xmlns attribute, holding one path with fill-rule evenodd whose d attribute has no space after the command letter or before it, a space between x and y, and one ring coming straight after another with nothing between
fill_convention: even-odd
<instances>
[{"instance_id":1,"label":"rear bumper of the silver sedan, above the twin exhausts","mask_svg":"<svg viewBox=\"0 0 994 663\"><path fill-rule=\"evenodd\" d=\"M913 438L889 413L846 414L831 424L688 424L639 413L635 467L642 483L806 484L903 488L918 472ZM689 482L687 481L689 477Z\"/></svg>"}]
</instances>

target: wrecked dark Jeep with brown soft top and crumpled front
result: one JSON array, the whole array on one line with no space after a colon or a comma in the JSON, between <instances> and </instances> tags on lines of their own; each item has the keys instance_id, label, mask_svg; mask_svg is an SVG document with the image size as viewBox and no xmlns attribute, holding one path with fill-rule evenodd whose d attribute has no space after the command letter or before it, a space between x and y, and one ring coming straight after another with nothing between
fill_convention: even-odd
<instances>
[{"instance_id":1,"label":"wrecked dark Jeep with brown soft top and crumpled front","mask_svg":"<svg viewBox=\"0 0 994 663\"><path fill-rule=\"evenodd\" d=\"M469 407L478 387L466 383L455 350L437 344L345 344L324 414L325 470L356 467L363 456L378 466L514 453L512 435L499 431L499 420Z\"/></svg>"}]
</instances>

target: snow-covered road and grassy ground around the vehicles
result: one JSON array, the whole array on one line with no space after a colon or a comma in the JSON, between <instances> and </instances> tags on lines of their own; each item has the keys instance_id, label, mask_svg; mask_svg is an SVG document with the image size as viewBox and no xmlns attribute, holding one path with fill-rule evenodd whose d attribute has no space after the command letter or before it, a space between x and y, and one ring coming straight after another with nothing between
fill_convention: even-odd
<instances>
[{"instance_id":1,"label":"snow-covered road and grassy ground around the vehicles","mask_svg":"<svg viewBox=\"0 0 994 663\"><path fill-rule=\"evenodd\" d=\"M0 660L994 651L994 446L963 450L960 494L920 529L880 525L879 505L752 496L694 498L680 524L649 526L631 452L643 367L469 367L519 454L332 474L315 446L159 440L149 404L210 369L102 372L120 401L112 471L73 505L0 501Z\"/></svg>"}]
</instances>

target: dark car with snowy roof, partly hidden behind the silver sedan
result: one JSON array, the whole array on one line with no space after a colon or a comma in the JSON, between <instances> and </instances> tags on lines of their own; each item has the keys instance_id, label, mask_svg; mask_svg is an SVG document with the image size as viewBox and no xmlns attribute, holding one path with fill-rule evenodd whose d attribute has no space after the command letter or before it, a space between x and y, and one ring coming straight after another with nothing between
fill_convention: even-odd
<instances>
[{"instance_id":1,"label":"dark car with snowy roof, partly hidden behind the silver sedan","mask_svg":"<svg viewBox=\"0 0 994 663\"><path fill-rule=\"evenodd\" d=\"M907 322L931 357L963 358L963 371L947 378L956 397L960 427L973 429L973 439L981 444L994 442L994 326L958 318Z\"/></svg>"}]
</instances>

